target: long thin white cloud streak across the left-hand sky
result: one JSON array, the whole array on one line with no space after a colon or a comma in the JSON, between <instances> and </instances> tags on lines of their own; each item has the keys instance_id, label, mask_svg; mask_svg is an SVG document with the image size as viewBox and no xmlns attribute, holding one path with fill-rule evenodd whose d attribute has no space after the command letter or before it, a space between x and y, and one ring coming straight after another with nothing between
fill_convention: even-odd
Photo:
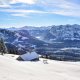
<instances>
[{"instance_id":1,"label":"long thin white cloud streak across the left-hand sky","mask_svg":"<svg viewBox=\"0 0 80 80\"><path fill-rule=\"evenodd\" d=\"M30 14L45 14L48 12L39 10L25 10L25 9L2 9L0 12L10 13L12 16L29 17Z\"/></svg>"}]
</instances>

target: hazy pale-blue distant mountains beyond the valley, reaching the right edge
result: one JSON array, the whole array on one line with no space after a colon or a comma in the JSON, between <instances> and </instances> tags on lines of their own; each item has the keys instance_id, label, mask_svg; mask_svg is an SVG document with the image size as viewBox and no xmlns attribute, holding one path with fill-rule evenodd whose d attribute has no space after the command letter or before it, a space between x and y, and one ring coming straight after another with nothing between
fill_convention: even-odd
<instances>
[{"instance_id":1,"label":"hazy pale-blue distant mountains beyond the valley, reaching the right edge","mask_svg":"<svg viewBox=\"0 0 80 80\"><path fill-rule=\"evenodd\" d=\"M30 35L44 41L80 40L80 25L77 24L53 25L48 27L24 26L21 30L27 30Z\"/></svg>"}]
</instances>

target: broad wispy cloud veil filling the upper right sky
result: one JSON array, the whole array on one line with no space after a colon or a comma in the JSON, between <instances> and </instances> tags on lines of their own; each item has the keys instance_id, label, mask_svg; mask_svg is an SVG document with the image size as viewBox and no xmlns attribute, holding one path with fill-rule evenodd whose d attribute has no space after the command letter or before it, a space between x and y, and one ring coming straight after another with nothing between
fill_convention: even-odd
<instances>
[{"instance_id":1,"label":"broad wispy cloud veil filling the upper right sky","mask_svg":"<svg viewBox=\"0 0 80 80\"><path fill-rule=\"evenodd\" d=\"M80 17L80 5L70 0L44 0L40 3L51 14Z\"/></svg>"}]
</instances>

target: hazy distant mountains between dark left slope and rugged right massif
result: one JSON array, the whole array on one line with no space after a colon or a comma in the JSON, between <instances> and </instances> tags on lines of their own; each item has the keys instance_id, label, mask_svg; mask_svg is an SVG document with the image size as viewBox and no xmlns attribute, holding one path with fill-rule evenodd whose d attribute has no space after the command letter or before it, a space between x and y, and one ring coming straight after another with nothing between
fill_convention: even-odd
<instances>
[{"instance_id":1,"label":"hazy distant mountains between dark left slope and rugged right massif","mask_svg":"<svg viewBox=\"0 0 80 80\"><path fill-rule=\"evenodd\" d=\"M36 37L39 40L44 39L44 35L49 32L51 27L32 27L32 26L24 26L20 28L21 30L27 30L31 36Z\"/></svg>"}]
</instances>

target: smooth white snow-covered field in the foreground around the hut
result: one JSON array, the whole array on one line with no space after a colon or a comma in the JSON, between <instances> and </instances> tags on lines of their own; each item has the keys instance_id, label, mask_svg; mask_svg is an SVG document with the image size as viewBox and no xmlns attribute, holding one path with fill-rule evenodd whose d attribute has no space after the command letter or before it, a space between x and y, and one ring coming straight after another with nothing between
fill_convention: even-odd
<instances>
[{"instance_id":1,"label":"smooth white snow-covered field in the foreground around the hut","mask_svg":"<svg viewBox=\"0 0 80 80\"><path fill-rule=\"evenodd\" d=\"M80 80L80 62L43 59L37 62L17 61L16 55L0 55L0 80Z\"/></svg>"}]
</instances>

